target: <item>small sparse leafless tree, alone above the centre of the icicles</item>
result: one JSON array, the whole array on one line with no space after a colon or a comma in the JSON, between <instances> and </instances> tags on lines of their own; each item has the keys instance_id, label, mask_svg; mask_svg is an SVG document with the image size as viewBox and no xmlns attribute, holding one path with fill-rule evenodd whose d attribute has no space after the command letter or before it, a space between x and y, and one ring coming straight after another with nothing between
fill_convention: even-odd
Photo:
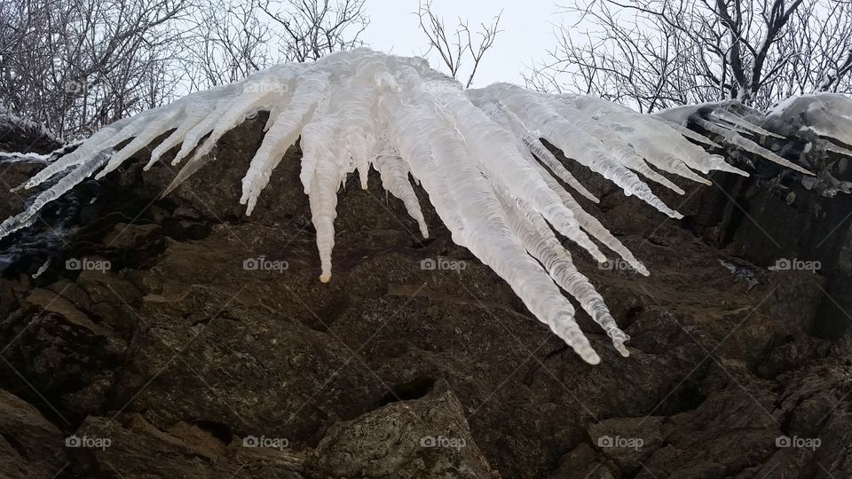
<instances>
[{"instance_id":1,"label":"small sparse leafless tree, alone above the centre of the icicles","mask_svg":"<svg viewBox=\"0 0 852 479\"><path fill-rule=\"evenodd\" d=\"M469 57L472 67L470 67L468 80L464 83L465 88L469 88L474 76L477 75L477 68L485 56L485 51L493 46L494 39L501 31L498 28L502 12L494 17L490 24L481 23L477 32L472 32L469 22L461 18L454 31L447 31L444 19L432 12L430 0L419 4L417 16L420 19L420 29L429 40L427 53L438 52L448 75L457 79L462 62ZM474 36L478 36L477 41L474 40Z\"/></svg>"}]
</instances>

